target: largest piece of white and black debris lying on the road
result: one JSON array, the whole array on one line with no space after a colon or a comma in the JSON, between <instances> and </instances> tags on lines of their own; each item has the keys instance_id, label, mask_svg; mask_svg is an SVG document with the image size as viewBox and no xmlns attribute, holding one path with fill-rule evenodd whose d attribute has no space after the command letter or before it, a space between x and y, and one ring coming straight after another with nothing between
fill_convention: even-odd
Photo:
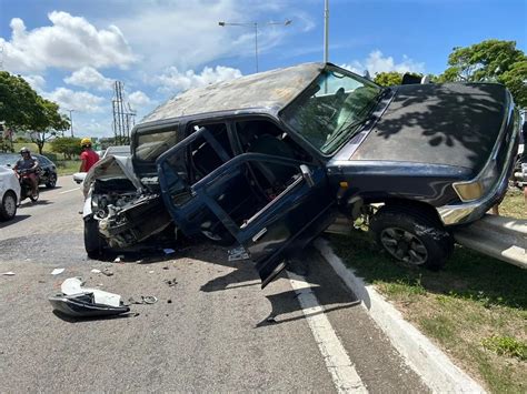
<instances>
[{"instance_id":1,"label":"largest piece of white and black debris lying on the road","mask_svg":"<svg viewBox=\"0 0 527 394\"><path fill-rule=\"evenodd\" d=\"M99 289L82 287L80 277L69 277L62 282L62 294L48 300L54 310L71 317L110 316L130 312L121 304L121 296Z\"/></svg>"}]
</instances>

